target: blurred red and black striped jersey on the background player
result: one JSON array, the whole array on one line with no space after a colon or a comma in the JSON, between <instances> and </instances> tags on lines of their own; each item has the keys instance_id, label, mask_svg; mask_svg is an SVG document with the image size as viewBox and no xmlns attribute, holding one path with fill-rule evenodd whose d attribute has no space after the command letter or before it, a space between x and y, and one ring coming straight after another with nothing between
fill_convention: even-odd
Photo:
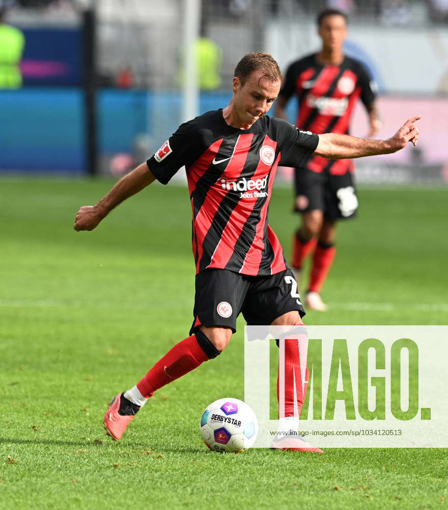
<instances>
[{"instance_id":1,"label":"blurred red and black striped jersey on the background player","mask_svg":"<svg viewBox=\"0 0 448 510\"><path fill-rule=\"evenodd\" d=\"M296 125L313 133L349 133L350 119L358 98L368 108L375 100L376 85L365 67L344 57L341 65L323 65L316 54L293 62L286 72L280 94L298 99ZM328 160L315 156L306 168L341 175L353 171L352 160Z\"/></svg>"}]
</instances>

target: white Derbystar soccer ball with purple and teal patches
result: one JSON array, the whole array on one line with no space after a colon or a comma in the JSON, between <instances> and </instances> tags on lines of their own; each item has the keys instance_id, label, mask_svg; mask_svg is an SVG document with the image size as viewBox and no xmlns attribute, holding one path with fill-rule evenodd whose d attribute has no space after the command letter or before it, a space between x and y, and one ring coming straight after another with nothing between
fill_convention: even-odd
<instances>
[{"instance_id":1,"label":"white Derbystar soccer ball with purple and teal patches","mask_svg":"<svg viewBox=\"0 0 448 510\"><path fill-rule=\"evenodd\" d=\"M253 446L258 434L254 411L237 398L220 398L202 413L199 431L210 450L239 452Z\"/></svg>"}]
</instances>

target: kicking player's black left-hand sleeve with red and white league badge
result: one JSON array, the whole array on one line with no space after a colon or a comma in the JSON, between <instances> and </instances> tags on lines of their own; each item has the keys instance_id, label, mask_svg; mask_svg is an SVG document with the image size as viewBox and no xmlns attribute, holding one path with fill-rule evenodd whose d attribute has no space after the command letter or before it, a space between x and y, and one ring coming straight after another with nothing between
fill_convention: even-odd
<instances>
[{"instance_id":1,"label":"kicking player's black left-hand sleeve with red and white league badge","mask_svg":"<svg viewBox=\"0 0 448 510\"><path fill-rule=\"evenodd\" d=\"M183 166L191 165L200 155L198 130L194 121L179 126L166 142L147 160L148 168L157 181L168 184Z\"/></svg>"}]
</instances>

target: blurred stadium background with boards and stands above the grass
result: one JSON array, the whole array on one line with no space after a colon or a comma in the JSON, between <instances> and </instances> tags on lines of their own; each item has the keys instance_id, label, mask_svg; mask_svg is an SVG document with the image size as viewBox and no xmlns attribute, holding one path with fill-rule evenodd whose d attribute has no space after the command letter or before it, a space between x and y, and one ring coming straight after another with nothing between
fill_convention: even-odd
<instances>
[{"instance_id":1,"label":"blurred stadium background with boards and stands above the grass","mask_svg":"<svg viewBox=\"0 0 448 510\"><path fill-rule=\"evenodd\" d=\"M0 0L25 39L22 85L0 90L0 173L121 174L225 106L243 54L266 50L285 70L318 48L328 6L348 13L346 53L378 84L379 136L423 115L419 146L359 161L358 183L446 184L447 0ZM366 135L360 106L352 126Z\"/></svg>"}]
</instances>

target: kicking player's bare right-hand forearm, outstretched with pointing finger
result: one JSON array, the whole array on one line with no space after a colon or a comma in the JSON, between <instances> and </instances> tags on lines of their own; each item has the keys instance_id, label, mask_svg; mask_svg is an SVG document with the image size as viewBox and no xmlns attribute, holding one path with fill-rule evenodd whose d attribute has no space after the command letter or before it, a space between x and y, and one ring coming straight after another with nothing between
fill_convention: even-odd
<instances>
[{"instance_id":1,"label":"kicking player's bare right-hand forearm, outstretched with pointing finger","mask_svg":"<svg viewBox=\"0 0 448 510\"><path fill-rule=\"evenodd\" d=\"M421 116L417 115L408 119L388 140L363 140L335 133L319 135L319 143L314 154L329 159L345 159L397 152L406 147L408 142L417 145L419 131L414 122L420 118Z\"/></svg>"}]
</instances>

